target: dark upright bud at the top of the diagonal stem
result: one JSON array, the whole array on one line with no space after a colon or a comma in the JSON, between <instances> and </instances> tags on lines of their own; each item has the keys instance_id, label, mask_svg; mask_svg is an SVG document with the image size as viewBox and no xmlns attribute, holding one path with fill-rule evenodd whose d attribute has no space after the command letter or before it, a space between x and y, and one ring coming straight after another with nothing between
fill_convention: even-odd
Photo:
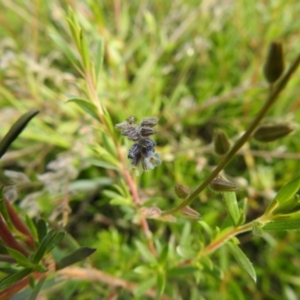
<instances>
[{"instance_id":1,"label":"dark upright bud at the top of the diagonal stem","mask_svg":"<svg viewBox=\"0 0 300 300\"><path fill-rule=\"evenodd\" d=\"M269 46L269 52L265 61L263 72L267 81L272 84L279 79L284 71L284 59L282 45L272 42Z\"/></svg>"}]
</instances>

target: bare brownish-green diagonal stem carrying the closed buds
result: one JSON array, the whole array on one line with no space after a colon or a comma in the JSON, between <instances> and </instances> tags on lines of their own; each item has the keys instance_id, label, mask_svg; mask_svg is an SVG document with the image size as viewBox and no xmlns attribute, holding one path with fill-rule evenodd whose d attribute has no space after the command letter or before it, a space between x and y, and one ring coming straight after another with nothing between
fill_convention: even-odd
<instances>
[{"instance_id":1,"label":"bare brownish-green diagonal stem carrying the closed buds","mask_svg":"<svg viewBox=\"0 0 300 300\"><path fill-rule=\"evenodd\" d=\"M297 56L294 63L290 66L286 74L283 76L283 78L278 82L277 86L272 89L272 92L269 94L269 97L267 101L265 102L264 106L259 111L258 115L255 117L255 119L250 124L249 128L246 130L246 132L236 141L236 143L233 145L233 147L230 149L230 151L223 157L223 159L220 161L218 166L210 173L210 175L196 188L196 190L190 194L190 196L185 199L183 202L181 202L178 206L164 211L161 215L166 216L173 213L176 213L180 211L185 206L188 206L192 203L192 201L211 183L211 181L219 174L220 171L224 169L224 167L231 161L231 159L235 156L235 154L238 152L238 150L248 141L251 134L254 132L254 130L257 128L260 121L264 118L266 113L269 111L271 106L275 103L275 101L278 99L278 96L280 92L284 89L286 84L288 83L290 77L292 74L296 71L297 67L300 64L300 54Z\"/></svg>"}]
</instances>

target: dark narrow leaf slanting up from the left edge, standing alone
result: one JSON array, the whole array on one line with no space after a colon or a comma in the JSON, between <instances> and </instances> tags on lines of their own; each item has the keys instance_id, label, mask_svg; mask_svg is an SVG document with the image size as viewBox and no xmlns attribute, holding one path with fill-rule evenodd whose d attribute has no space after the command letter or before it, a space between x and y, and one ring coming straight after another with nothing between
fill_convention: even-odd
<instances>
[{"instance_id":1,"label":"dark narrow leaf slanting up from the left edge, standing alone","mask_svg":"<svg viewBox=\"0 0 300 300\"><path fill-rule=\"evenodd\" d=\"M8 147L12 144L12 142L20 135L23 129L26 127L28 122L39 113L38 110L34 109L26 114L22 115L10 128L7 134L0 142L0 158L5 154Z\"/></svg>"}]
</instances>

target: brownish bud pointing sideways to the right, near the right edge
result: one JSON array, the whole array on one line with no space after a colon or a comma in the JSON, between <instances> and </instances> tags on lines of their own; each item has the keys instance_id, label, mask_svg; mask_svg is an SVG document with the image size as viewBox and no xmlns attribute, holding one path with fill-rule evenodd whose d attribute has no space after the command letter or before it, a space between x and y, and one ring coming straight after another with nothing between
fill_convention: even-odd
<instances>
[{"instance_id":1,"label":"brownish bud pointing sideways to the right, near the right edge","mask_svg":"<svg viewBox=\"0 0 300 300\"><path fill-rule=\"evenodd\" d=\"M262 125L256 129L253 137L259 142L272 142L290 134L294 129L290 124Z\"/></svg>"}]
</instances>

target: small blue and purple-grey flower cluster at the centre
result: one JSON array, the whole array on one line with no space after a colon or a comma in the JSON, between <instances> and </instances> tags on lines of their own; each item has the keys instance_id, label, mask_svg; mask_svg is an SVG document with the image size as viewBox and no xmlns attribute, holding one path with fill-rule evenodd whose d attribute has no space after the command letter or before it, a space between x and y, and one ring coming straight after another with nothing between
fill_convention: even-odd
<instances>
[{"instance_id":1,"label":"small blue and purple-grey flower cluster at the centre","mask_svg":"<svg viewBox=\"0 0 300 300\"><path fill-rule=\"evenodd\" d=\"M144 171L148 171L161 164L159 154L155 153L156 143L149 138L156 133L153 127L157 122L157 117L147 117L136 124L136 118L130 116L126 121L115 125L122 135L135 142L129 149L128 158L131 159L130 171L136 175L139 175L140 165Z\"/></svg>"}]
</instances>

